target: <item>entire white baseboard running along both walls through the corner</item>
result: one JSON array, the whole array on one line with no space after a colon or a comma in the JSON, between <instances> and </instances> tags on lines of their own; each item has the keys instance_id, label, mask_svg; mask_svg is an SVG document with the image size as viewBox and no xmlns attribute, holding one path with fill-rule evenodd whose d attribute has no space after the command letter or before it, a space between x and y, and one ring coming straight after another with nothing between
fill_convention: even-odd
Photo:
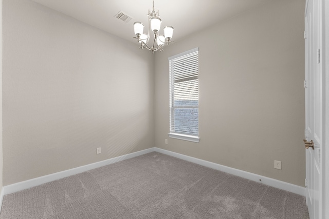
<instances>
[{"instance_id":1,"label":"entire white baseboard running along both walls through the corner","mask_svg":"<svg viewBox=\"0 0 329 219\"><path fill-rule=\"evenodd\" d=\"M201 159L198 159L198 158L195 158L195 157L191 157L191 156L187 156L187 155L184 155L184 154L179 154L179 153L175 153L175 152L172 152L172 151L168 151L168 150L164 150L164 149L154 147L154 148L149 148L149 149L145 149L145 150L142 150L142 151L137 151L137 152L134 152L134 153L125 154L125 155L122 155L122 156L110 158L110 159L105 160L105 161L100 161L100 162L97 162L97 163L88 164L88 165L85 165L85 166L81 166L81 167L77 167L77 168L73 168L73 169L69 169L69 170L65 170L65 171L61 171L61 172L57 172L57 173L53 173L53 174L49 174L49 175L45 175L45 176L41 176L41 177L38 177L38 178L32 178L31 180L27 180L27 181L11 184L11 185L8 185L8 186L4 186L2 188L1 194L0 194L0 209L1 209L3 196L6 195L6 194L21 191L21 190L28 189L28 188L31 188L31 187L34 187L34 186L39 186L39 185L44 184L44 183L49 183L49 182L54 181L54 180L59 180L60 178L75 175L75 174L78 174L78 173L82 173L82 172L92 170L92 169L95 169L95 168L98 168L98 167L106 166L106 165L109 165L109 164L114 164L116 162L123 161L123 160L129 159L129 158L133 158L135 156L139 156L139 155L142 155L142 154L150 153L150 152L153 152L153 151L163 153L163 154L167 154L167 155L170 155L170 156L173 156L173 157L177 157L177 158L180 158L181 160L189 161L189 162L199 164L199 165L202 165L202 166L205 166L205 167L209 167L209 168L212 168L212 169L215 169L215 170L220 170L220 171L223 171L223 172L226 172L226 173L230 173L232 175L247 178L248 180L252 180L252 181L255 181L255 182L260 182L260 180L261 180L261 183L263 183L265 185L272 186L272 187L275 187L275 188L278 188L278 189L283 189L283 190L286 190L286 191L289 191L289 192L294 192L296 194L305 196L305 188L301 187L301 186L297 186L297 185L294 185L294 184L290 184L290 183L282 182L282 181L279 181L279 180L275 180L273 178L261 176L261 175L254 174L254 173L249 173L249 172L246 172L246 171L243 171L243 170L234 169L234 168L223 166L223 165L220 165L220 164L215 164L215 163L212 163L212 162L209 162L209 161L204 161L204 160L201 160Z\"/></svg>"}]
</instances>

